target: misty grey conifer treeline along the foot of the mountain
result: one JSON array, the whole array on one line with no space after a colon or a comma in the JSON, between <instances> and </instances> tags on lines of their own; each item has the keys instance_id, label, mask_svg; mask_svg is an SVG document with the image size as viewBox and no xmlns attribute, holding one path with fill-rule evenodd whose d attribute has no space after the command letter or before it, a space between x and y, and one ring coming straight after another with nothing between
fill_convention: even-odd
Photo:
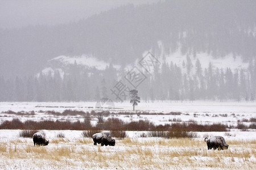
<instances>
[{"instance_id":1,"label":"misty grey conifer treeline along the foot of the mountain","mask_svg":"<svg viewBox=\"0 0 256 170\"><path fill-rule=\"evenodd\" d=\"M80 71L76 65L69 73L18 77L0 76L0 101L97 101L117 97L111 91L117 84L117 75L125 75L112 65L105 70ZM184 59L183 66L174 63L162 64L147 76L138 88L141 100L246 100L254 101L256 92L256 59L247 69L218 69L209 63L201 67L199 59L195 65L191 58ZM129 100L129 94L126 94Z\"/></svg>"}]
</instances>

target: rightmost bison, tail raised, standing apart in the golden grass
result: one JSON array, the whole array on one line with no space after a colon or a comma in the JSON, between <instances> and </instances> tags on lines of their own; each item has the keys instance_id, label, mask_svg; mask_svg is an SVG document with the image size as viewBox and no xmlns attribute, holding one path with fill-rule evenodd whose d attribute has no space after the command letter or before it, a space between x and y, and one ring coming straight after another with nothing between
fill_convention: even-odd
<instances>
[{"instance_id":1,"label":"rightmost bison, tail raised, standing apart in the golden grass","mask_svg":"<svg viewBox=\"0 0 256 170\"><path fill-rule=\"evenodd\" d=\"M204 138L204 142L205 139L207 139L207 147L208 150L211 150L212 148L214 150L216 150L216 148L218 148L218 150L227 150L229 145L226 144L225 139L221 136L216 136L216 137L211 137L211 138Z\"/></svg>"}]
</instances>

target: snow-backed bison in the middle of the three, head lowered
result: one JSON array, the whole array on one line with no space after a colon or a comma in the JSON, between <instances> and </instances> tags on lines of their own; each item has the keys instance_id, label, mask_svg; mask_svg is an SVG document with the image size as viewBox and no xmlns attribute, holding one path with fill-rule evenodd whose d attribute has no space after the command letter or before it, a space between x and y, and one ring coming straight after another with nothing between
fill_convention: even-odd
<instances>
[{"instance_id":1,"label":"snow-backed bison in the middle of the three, head lowered","mask_svg":"<svg viewBox=\"0 0 256 170\"><path fill-rule=\"evenodd\" d=\"M110 132L100 132L92 136L94 145L101 143L101 146L115 146L115 139L111 138Z\"/></svg>"}]
</instances>

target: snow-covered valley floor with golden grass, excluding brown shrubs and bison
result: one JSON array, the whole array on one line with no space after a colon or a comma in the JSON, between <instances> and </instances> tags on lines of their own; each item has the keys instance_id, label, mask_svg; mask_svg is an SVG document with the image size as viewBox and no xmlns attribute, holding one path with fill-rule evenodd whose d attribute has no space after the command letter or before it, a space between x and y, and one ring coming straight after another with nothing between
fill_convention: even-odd
<instances>
[{"instance_id":1,"label":"snow-covered valley floor with golden grass, excluding brown shrubs and bison","mask_svg":"<svg viewBox=\"0 0 256 170\"><path fill-rule=\"evenodd\" d=\"M86 103L0 103L0 120L83 120L82 116L54 116L47 111L72 109L84 112L133 112L130 103L115 103L115 109L94 108L96 102ZM174 118L195 120L201 124L221 122L237 124L238 120L255 118L255 103L219 103L194 101L174 103L161 101L140 103L137 114L115 115L125 121L147 119L155 124L169 124ZM31 112L20 116L1 112ZM180 115L139 112L170 113ZM107 118L107 117L105 117ZM96 120L93 120L96 122ZM249 122L243 122L249 124ZM255 169L256 131L233 129L229 132L197 132L193 139L141 138L143 131L128 131L128 137L116 139L113 146L94 146L91 138L83 138L78 130L43 130L49 145L34 147L32 138L21 138L21 130L0 130L0 169ZM57 138L58 133L65 138ZM205 137L222 135L228 150L207 150Z\"/></svg>"}]
</instances>

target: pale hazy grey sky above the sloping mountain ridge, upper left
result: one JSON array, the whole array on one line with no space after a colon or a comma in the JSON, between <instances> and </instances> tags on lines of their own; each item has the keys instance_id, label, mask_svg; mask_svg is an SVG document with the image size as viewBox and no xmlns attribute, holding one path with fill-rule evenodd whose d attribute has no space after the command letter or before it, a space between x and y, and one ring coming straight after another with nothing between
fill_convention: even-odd
<instances>
[{"instance_id":1,"label":"pale hazy grey sky above the sloping mountain ridge, upper left","mask_svg":"<svg viewBox=\"0 0 256 170\"><path fill-rule=\"evenodd\" d=\"M0 28L26 27L38 24L60 24L133 3L159 0L0 0Z\"/></svg>"}]
</instances>

